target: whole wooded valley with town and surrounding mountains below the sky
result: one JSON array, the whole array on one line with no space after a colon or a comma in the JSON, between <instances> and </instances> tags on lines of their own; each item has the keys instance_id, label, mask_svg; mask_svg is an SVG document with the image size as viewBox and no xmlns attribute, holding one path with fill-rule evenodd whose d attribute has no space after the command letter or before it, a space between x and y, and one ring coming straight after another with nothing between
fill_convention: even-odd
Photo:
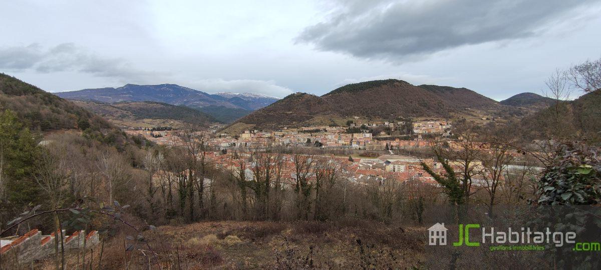
<instances>
[{"instance_id":1,"label":"whole wooded valley with town and surrounding mountains below the sky","mask_svg":"<svg viewBox=\"0 0 601 270\"><path fill-rule=\"evenodd\" d=\"M74 198L89 194L60 211L76 218L64 215L66 227L97 229L87 234L98 235L93 247L82 251L98 259L80 260L80 253L69 251L61 256L66 266L439 266L454 260L453 252L442 249L429 260L424 235L432 227L425 224L452 224L447 202L472 200L475 217L527 205L542 192L532 181L555 162L546 155L564 151L541 139L577 134L595 143L600 132L599 90L573 101L525 93L497 102L465 88L379 80L321 97L296 93L267 101L251 94L212 97L168 84L59 93L69 98L63 99L14 77L0 79L0 127L8 138L0 141L8 153L0 159L20 168L7 167L18 185L2 186L6 198L44 203L35 198L66 194L69 186ZM47 113L35 113L37 107ZM553 128L558 125L564 128ZM596 146L578 143L559 147L594 155ZM465 168L468 173L459 173ZM493 187L502 193L490 193ZM12 262L20 254L14 262L51 268L51 259L30 262L19 251L23 241L52 228L49 217L35 211L1 220L38 229L2 238L0 257ZM112 225L96 225L107 222ZM71 229L61 241L68 244L78 232ZM109 251L98 250L99 243ZM123 245L125 251L118 251ZM149 251L154 255L148 257ZM481 263L468 257L462 263ZM505 265L532 260L486 257Z\"/></svg>"}]
</instances>

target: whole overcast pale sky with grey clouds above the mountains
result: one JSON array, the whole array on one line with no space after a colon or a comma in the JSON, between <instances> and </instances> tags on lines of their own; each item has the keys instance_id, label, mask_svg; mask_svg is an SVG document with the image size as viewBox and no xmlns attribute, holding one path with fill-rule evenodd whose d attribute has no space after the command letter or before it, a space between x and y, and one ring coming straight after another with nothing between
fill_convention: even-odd
<instances>
[{"instance_id":1,"label":"whole overcast pale sky with grey clouds above the mountains","mask_svg":"<svg viewBox=\"0 0 601 270\"><path fill-rule=\"evenodd\" d=\"M285 97L392 78L504 100L601 57L601 0L0 6L0 72L49 92L175 83Z\"/></svg>"}]
</instances>

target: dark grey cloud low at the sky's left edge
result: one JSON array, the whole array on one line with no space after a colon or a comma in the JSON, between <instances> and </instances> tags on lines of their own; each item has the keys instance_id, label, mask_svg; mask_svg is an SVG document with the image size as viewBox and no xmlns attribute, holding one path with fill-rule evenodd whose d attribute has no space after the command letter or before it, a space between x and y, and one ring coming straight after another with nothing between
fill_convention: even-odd
<instances>
[{"instance_id":1,"label":"dark grey cloud low at the sky's left edge","mask_svg":"<svg viewBox=\"0 0 601 270\"><path fill-rule=\"evenodd\" d=\"M138 80L157 73L141 71L119 58L102 58L73 43L62 43L46 49L37 43L28 46L0 48L0 69L54 73L78 71L98 77Z\"/></svg>"}]
</instances>

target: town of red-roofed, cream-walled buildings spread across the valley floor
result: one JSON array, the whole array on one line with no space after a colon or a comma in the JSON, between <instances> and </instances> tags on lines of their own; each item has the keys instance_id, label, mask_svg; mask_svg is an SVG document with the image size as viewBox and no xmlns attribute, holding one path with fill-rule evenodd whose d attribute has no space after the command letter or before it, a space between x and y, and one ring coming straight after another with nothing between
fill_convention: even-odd
<instances>
[{"instance_id":1,"label":"town of red-roofed, cream-walled buildings spread across the valley floor","mask_svg":"<svg viewBox=\"0 0 601 270\"><path fill-rule=\"evenodd\" d=\"M388 123L389 124L389 123ZM385 123L386 125L386 123ZM441 134L450 130L450 123L446 121L421 121L413 123L414 132L419 134ZM432 141L422 140L418 136L415 140L386 139L374 137L370 132L360 130L359 133L348 133L346 127L304 127L296 129L285 129L280 131L251 131L246 130L237 136L228 134L216 134L208 140L209 145L213 146L212 152L206 154L207 160L210 160L218 169L238 172L240 168L245 173L246 179L254 177L254 170L258 164L253 161L251 155L257 154L267 146L288 146L288 147L320 147L320 148L342 148L342 149L399 149L399 148L427 148ZM160 132L161 136L151 136L151 131L147 130L129 130L130 134L138 134L147 137L159 144L184 145L181 143L175 132L177 131L152 131ZM180 142L180 143L178 143ZM457 142L449 141L450 148L460 148ZM482 149L487 146L483 145ZM428 164L430 168L437 173L444 173L442 164L432 158L418 158L402 155L380 155L377 158L364 157L341 157L335 155L311 155L311 158L319 159L316 164L331 164L340 168L341 177L357 184L383 184L386 181L406 182L417 180L425 184L438 185L436 181L424 169L421 163ZM518 152L512 152L516 158L519 158ZM281 167L279 175L282 183L293 184L296 179L295 160L298 157L293 154L279 154L281 158ZM461 164L451 161L452 167L459 167ZM484 171L480 161L472 163L475 166L474 171ZM315 177L315 175L311 176ZM475 186L486 185L484 178L475 175L472 180Z\"/></svg>"}]
</instances>

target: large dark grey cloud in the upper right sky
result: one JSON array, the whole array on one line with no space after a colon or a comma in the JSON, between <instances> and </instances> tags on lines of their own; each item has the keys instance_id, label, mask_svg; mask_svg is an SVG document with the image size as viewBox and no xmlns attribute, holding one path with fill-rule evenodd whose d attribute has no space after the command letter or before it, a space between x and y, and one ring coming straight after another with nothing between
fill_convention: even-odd
<instances>
[{"instance_id":1,"label":"large dark grey cloud in the upper right sky","mask_svg":"<svg viewBox=\"0 0 601 270\"><path fill-rule=\"evenodd\" d=\"M297 41L319 50L398 61L466 44L532 37L591 2L598 1L343 1Z\"/></svg>"}]
</instances>

